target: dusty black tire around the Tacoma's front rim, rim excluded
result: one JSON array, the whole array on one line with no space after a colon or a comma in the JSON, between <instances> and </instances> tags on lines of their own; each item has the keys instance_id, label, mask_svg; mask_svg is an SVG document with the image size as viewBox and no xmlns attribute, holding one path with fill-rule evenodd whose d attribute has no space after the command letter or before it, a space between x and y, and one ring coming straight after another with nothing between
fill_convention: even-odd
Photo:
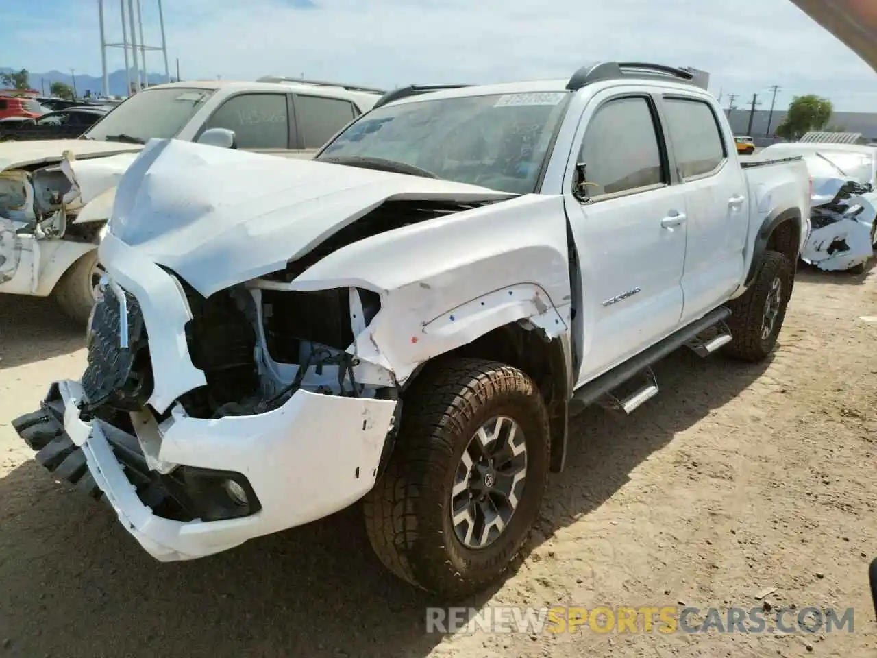
<instances>
[{"instance_id":1,"label":"dusty black tire around the Tacoma's front rim, rim excluded","mask_svg":"<svg viewBox=\"0 0 877 658\"><path fill-rule=\"evenodd\" d=\"M467 597L503 576L538 519L551 443L545 403L517 368L449 359L427 365L403 404L394 452L363 501L368 538L396 576L441 597ZM524 490L503 533L473 549L454 532L451 491L469 440L496 416L524 433Z\"/></svg>"}]
</instances>

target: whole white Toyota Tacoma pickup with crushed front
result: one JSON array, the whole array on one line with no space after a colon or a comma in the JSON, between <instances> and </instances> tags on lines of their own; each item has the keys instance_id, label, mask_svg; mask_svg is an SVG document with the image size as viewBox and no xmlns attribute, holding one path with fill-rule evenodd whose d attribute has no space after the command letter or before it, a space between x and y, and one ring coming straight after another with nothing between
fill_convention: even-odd
<instances>
[{"instance_id":1,"label":"whole white Toyota Tacoma pickup with crushed front","mask_svg":"<svg viewBox=\"0 0 877 658\"><path fill-rule=\"evenodd\" d=\"M313 161L153 141L88 367L13 426L161 561L361 498L392 572L467 595L572 414L630 413L677 348L771 353L808 212L802 161L741 164L716 100L652 64L399 89Z\"/></svg>"}]
</instances>

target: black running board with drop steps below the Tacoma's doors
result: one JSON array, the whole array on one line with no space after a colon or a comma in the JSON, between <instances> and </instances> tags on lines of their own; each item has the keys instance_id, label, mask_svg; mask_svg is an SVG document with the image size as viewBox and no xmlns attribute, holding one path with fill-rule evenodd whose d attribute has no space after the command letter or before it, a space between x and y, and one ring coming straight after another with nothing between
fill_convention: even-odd
<instances>
[{"instance_id":1,"label":"black running board with drop steps below the Tacoma's doors","mask_svg":"<svg viewBox=\"0 0 877 658\"><path fill-rule=\"evenodd\" d=\"M690 325L683 326L678 332L667 336L664 340L660 340L660 342L655 343L652 347L648 347L632 359L624 361L624 363L612 368L609 372L586 383L581 389L575 391L573 395L572 401L574 406L579 407L579 409L574 410L571 408L570 412L574 413L574 411L581 411L581 408L594 404L601 397L616 390L623 383L629 382L633 377L639 374L648 375L648 373L651 372L651 366L654 363L660 361L668 354L675 352L680 347L690 343L692 340L695 340L698 334L705 332L710 327L716 326L719 323L724 323L724 321L730 317L731 309L724 306L709 311L709 313L702 318L695 320ZM727 335L729 338L723 339L725 342L731 340L731 334L728 333ZM722 345L724 345L724 343L722 343ZM721 347L721 345L714 347L713 351L718 349L718 347ZM646 400L654 397L655 394L658 393L658 385L654 381L653 373L651 379L651 383L646 383L638 390L635 390L631 395L621 398L618 401L621 408L624 409L624 404L627 403L628 408L633 411L640 404L643 404ZM627 412L630 413L630 411Z\"/></svg>"}]
</instances>

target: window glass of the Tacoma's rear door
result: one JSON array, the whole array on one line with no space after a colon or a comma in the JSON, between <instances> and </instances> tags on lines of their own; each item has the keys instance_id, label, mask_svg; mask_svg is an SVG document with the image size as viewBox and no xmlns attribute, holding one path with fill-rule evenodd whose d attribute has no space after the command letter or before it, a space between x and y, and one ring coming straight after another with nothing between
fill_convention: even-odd
<instances>
[{"instance_id":1,"label":"window glass of the Tacoma's rear door","mask_svg":"<svg viewBox=\"0 0 877 658\"><path fill-rule=\"evenodd\" d=\"M712 106L696 98L664 97L663 102L679 177L687 181L716 172L728 150Z\"/></svg>"}]
</instances>

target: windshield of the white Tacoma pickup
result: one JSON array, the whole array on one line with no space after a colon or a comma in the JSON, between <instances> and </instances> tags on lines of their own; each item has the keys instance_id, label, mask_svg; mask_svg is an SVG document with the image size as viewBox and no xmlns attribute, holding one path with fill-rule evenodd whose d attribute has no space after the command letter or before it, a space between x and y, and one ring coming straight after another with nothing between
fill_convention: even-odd
<instances>
[{"instance_id":1,"label":"windshield of the white Tacoma pickup","mask_svg":"<svg viewBox=\"0 0 877 658\"><path fill-rule=\"evenodd\" d=\"M348 127L316 159L403 163L448 181L528 194L536 191L568 97L540 92L387 105Z\"/></svg>"}]
</instances>

